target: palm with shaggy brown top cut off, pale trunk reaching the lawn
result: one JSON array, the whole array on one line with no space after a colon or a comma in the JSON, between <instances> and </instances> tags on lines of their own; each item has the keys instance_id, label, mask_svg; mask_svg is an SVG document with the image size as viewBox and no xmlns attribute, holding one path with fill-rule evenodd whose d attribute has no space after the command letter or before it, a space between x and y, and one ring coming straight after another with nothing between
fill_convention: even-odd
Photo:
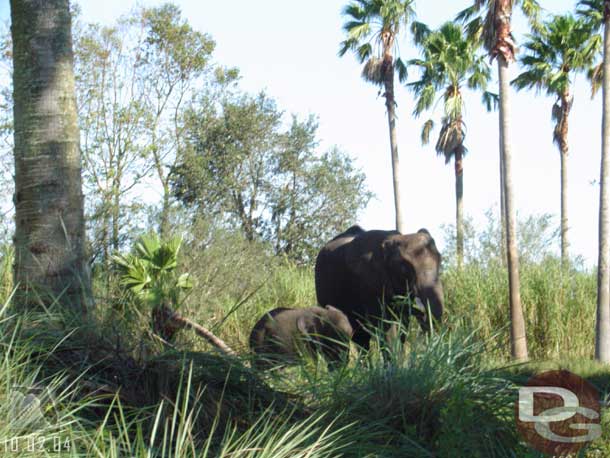
<instances>
[{"instance_id":1,"label":"palm with shaggy brown top cut off, pale trunk reaching the lawn","mask_svg":"<svg viewBox=\"0 0 610 458\"><path fill-rule=\"evenodd\" d=\"M500 82L500 164L503 170L504 206L506 226L506 254L511 323L511 354L517 360L526 360L527 338L521 306L519 254L517 250L516 210L513 198L512 154L510 130L509 64L515 60L515 43L511 34L513 5L521 10L535 29L540 6L536 0L474 0L474 4L458 14L458 20L468 21L469 36L482 41L492 59L498 61ZM471 20L472 19L472 20Z\"/></svg>"}]
</instances>

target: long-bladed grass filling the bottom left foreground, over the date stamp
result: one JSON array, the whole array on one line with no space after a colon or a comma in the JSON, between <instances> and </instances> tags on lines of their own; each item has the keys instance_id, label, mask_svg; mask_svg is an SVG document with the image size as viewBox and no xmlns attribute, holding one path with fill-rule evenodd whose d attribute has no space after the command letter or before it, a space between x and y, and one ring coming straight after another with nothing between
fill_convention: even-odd
<instances>
[{"instance_id":1,"label":"long-bladed grass filling the bottom left foreground, over the date stamp","mask_svg":"<svg viewBox=\"0 0 610 458\"><path fill-rule=\"evenodd\" d=\"M239 360L168 354L141 368L131 387L123 380L111 389L96 367L103 350L92 347L90 360L74 366L86 342L78 331L56 334L63 320L52 311L11 315L8 304L0 310L2 456L330 457L349 445L334 417L303 415L262 385L244 384L249 369ZM42 323L51 332L39 332ZM148 396L131 397L133 384ZM253 388L273 395L271 403L257 402Z\"/></svg>"}]
</instances>

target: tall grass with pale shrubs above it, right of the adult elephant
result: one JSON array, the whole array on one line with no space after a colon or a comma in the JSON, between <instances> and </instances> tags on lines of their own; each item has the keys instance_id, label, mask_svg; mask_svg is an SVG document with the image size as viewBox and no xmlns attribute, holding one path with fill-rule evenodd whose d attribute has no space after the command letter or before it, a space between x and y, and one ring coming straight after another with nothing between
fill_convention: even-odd
<instances>
[{"instance_id":1,"label":"tall grass with pale shrubs above it, right of the adult elephant","mask_svg":"<svg viewBox=\"0 0 610 458\"><path fill-rule=\"evenodd\" d=\"M455 266L453 229L447 228L443 286L448 318L455 326L477 329L483 339L500 333L497 356L508 351L508 278L502 265L500 227L491 211L483 230L465 224L463 271ZM550 215L518 221L521 300L532 358L593 356L596 278L578 259L562 269L558 230ZM580 267L579 267L580 265Z\"/></svg>"}]
</instances>

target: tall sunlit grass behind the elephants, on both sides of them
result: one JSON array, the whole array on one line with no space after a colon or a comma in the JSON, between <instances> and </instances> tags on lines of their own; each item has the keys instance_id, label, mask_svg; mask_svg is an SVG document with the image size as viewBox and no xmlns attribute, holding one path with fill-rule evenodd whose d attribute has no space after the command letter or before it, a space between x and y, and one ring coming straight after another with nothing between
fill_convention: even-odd
<instances>
[{"instance_id":1,"label":"tall sunlit grass behind the elephants, on both sides of them","mask_svg":"<svg viewBox=\"0 0 610 458\"><path fill-rule=\"evenodd\" d=\"M442 273L445 324L477 330L495 342L494 356L509 354L508 277L500 263L466 264ZM596 277L582 270L562 271L560 261L546 258L521 266L521 298L530 355L534 359L592 358L594 352ZM195 320L213 319L223 338L247 349L254 323L275 307L316 304L312 267L277 266L248 293L225 297L210 310L191 309ZM237 306L237 307L236 307ZM197 342L192 342L198 345Z\"/></svg>"}]
</instances>

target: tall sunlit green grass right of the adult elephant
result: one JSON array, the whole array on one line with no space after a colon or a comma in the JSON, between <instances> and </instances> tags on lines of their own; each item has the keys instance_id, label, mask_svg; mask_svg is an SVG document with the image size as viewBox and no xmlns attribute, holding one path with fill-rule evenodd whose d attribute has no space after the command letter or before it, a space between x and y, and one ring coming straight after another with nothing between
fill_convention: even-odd
<instances>
[{"instance_id":1,"label":"tall sunlit green grass right of the adult elephant","mask_svg":"<svg viewBox=\"0 0 610 458\"><path fill-rule=\"evenodd\" d=\"M508 356L508 279L496 263L467 264L444 272L447 319L478 329L482 339L498 332L499 356ZM528 348L533 359L592 358L595 342L596 277L592 272L562 271L547 258L521 267Z\"/></svg>"}]
</instances>

